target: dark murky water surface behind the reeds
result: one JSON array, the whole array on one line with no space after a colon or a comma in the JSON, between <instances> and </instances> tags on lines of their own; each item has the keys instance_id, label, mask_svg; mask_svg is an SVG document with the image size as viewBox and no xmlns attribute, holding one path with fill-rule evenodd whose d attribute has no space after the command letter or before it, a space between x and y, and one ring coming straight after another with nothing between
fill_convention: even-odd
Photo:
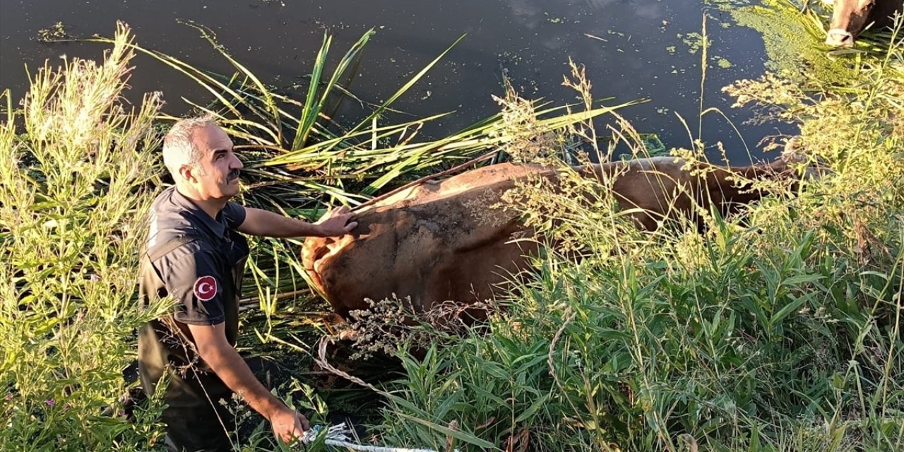
<instances>
[{"instance_id":1,"label":"dark murky water surface behind the reeds","mask_svg":"<svg viewBox=\"0 0 904 452\"><path fill-rule=\"evenodd\" d=\"M456 110L430 130L433 135L498 111L490 96L502 92L502 71L525 97L557 104L575 100L573 91L560 86L571 57L587 66L596 96L650 99L621 111L641 132L659 134L666 146L689 146L691 137L676 114L687 120L696 137L704 13L710 15L706 28L712 41L704 106L720 108L758 158L760 138L794 133L794 128L743 124L751 112L730 108L732 99L720 89L731 80L763 73L762 39L753 30L732 26L728 14L701 0L3 0L0 87L13 89L19 99L27 83L24 64L34 71L45 59L56 61L61 54L96 57L102 52L100 44L35 40L40 29L56 22L73 35L112 36L115 21L121 19L143 46L231 73L195 30L176 23L190 19L210 27L234 57L276 85L299 81L310 71L325 30L334 33L331 60L337 61L373 27L377 33L352 89L362 99L379 102L467 33L428 78L395 104L416 116ZM136 63L134 92L164 91L169 112L187 109L182 97L206 99L174 70L147 58ZM749 160L741 137L725 118L704 118L702 138L722 141L738 164Z\"/></svg>"}]
</instances>

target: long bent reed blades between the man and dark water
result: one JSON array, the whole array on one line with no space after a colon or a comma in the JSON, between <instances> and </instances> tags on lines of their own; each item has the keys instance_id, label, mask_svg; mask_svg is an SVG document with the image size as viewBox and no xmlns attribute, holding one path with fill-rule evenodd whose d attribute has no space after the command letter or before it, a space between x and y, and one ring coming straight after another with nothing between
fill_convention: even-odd
<instances>
[{"instance_id":1,"label":"long bent reed blades between the man and dark water","mask_svg":"<svg viewBox=\"0 0 904 452\"><path fill-rule=\"evenodd\" d=\"M507 123L501 115L485 118L439 139L422 139L419 132L426 124L444 118L448 113L391 122L388 118L394 112L391 104L414 86L451 46L385 102L370 106L372 113L366 118L344 125L336 123L333 116L344 99L364 104L344 85L353 80L373 31L365 33L345 52L328 78L325 65L332 38L324 36L305 100L298 101L259 80L216 42L210 30L199 24L186 24L202 33L236 72L223 77L162 52L137 45L132 48L183 72L188 79L212 93L210 104L191 105L199 112L217 118L231 137L238 138L236 148L245 163L242 183L247 190L243 193L243 202L251 206L315 219L325 212L326 206L359 204L398 180L427 174L438 165L461 163L481 153L492 153L523 135L517 127L517 132L512 127L505 128ZM111 42L100 38L88 41ZM534 105L530 116L536 121L527 130L534 135L544 134L631 104L587 105L576 112L567 107ZM268 314L277 311L277 291L296 293L305 287L304 281L299 280L306 277L300 271L299 245L282 240L252 244L264 252L252 253L250 268L254 278L249 279L254 287L249 288L257 293L260 307Z\"/></svg>"}]
</instances>

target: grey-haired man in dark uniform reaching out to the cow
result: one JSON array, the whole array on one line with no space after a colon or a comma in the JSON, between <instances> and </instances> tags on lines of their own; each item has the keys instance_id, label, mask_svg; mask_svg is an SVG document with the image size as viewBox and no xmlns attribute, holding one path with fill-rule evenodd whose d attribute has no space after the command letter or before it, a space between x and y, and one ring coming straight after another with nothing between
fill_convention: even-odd
<instances>
[{"instance_id":1,"label":"grey-haired man in dark uniform reaching out to the cow","mask_svg":"<svg viewBox=\"0 0 904 452\"><path fill-rule=\"evenodd\" d=\"M138 334L138 369L145 391L166 383L166 443L178 451L231 450L234 421L221 400L238 394L268 419L283 442L300 436L305 417L273 397L235 350L241 275L248 242L265 237L332 237L357 223L346 208L317 223L229 202L239 193L242 164L232 142L208 118L177 122L164 140L174 186L155 200L141 266L141 294L178 302L172 315ZM238 231L238 232L237 232Z\"/></svg>"}]
</instances>

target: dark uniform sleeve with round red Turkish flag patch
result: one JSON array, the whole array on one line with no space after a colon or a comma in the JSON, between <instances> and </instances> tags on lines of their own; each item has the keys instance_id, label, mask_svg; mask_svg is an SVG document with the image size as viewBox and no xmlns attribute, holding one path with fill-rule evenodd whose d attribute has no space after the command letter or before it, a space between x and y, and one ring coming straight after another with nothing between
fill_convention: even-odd
<instances>
[{"instance_id":1,"label":"dark uniform sleeve with round red Turkish flag patch","mask_svg":"<svg viewBox=\"0 0 904 452\"><path fill-rule=\"evenodd\" d=\"M226 321L221 274L212 253L195 250L170 253L158 261L166 291L178 305L174 319L188 325L217 325Z\"/></svg>"}]
</instances>

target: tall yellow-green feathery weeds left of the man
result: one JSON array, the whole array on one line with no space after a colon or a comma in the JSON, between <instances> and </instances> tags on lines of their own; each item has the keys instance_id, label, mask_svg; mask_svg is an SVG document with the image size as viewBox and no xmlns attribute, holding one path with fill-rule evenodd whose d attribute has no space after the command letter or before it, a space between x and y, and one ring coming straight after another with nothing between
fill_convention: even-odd
<instances>
[{"instance_id":1,"label":"tall yellow-green feathery weeds left of the man","mask_svg":"<svg viewBox=\"0 0 904 452\"><path fill-rule=\"evenodd\" d=\"M153 200L161 102L123 103L127 29L102 63L33 74L0 124L0 449L136 450L159 435L159 403L127 420L123 370L138 309L136 268Z\"/></svg>"}]
</instances>

